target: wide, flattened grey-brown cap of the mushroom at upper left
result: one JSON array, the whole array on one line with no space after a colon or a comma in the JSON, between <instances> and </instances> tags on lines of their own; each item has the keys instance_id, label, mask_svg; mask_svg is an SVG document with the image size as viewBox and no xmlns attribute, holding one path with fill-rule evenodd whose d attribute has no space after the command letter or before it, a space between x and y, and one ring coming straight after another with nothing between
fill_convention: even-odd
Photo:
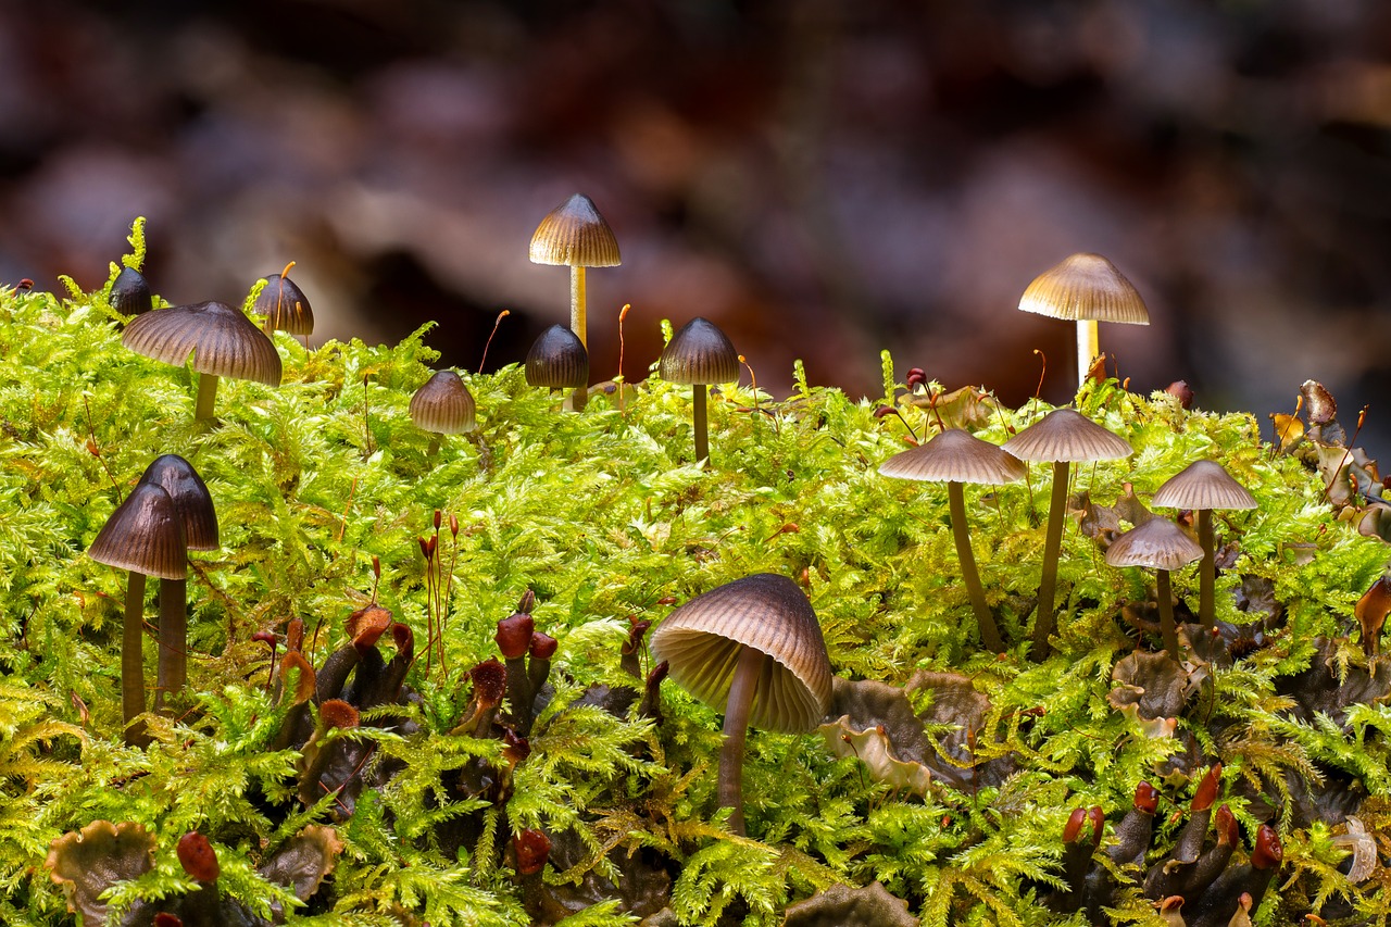
<instances>
[{"instance_id":1,"label":"wide, flattened grey-brown cap of the mushroom at upper left","mask_svg":"<svg viewBox=\"0 0 1391 927\"><path fill-rule=\"evenodd\" d=\"M125 327L121 344L177 367L192 354L198 373L280 386L275 342L223 302L146 312Z\"/></svg>"}]
</instances>

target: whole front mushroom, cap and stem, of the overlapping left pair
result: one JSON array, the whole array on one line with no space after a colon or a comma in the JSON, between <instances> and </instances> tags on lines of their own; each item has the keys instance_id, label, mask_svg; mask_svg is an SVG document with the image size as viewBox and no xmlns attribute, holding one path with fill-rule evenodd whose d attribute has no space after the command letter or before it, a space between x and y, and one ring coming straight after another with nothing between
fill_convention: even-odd
<instances>
[{"instance_id":1,"label":"whole front mushroom, cap and stem, of the overlapping left pair","mask_svg":"<svg viewBox=\"0 0 1391 927\"><path fill-rule=\"evenodd\" d=\"M147 317L147 316L140 316ZM157 483L140 483L97 533L88 557L131 571L125 586L125 632L121 637L121 711L127 743L142 735L131 721L145 711L145 578L179 579L188 572L188 547L174 500Z\"/></svg>"}]
</instances>

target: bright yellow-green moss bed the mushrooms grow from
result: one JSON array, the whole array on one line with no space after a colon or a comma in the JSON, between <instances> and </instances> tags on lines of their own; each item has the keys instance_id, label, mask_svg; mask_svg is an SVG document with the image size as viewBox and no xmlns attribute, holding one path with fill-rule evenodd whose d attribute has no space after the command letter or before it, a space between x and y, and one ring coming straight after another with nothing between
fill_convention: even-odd
<instances>
[{"instance_id":1,"label":"bright yellow-green moss bed the mushrooms grow from","mask_svg":"<svg viewBox=\"0 0 1391 927\"><path fill-rule=\"evenodd\" d=\"M280 386L223 379L199 420L195 373L124 348L110 291L0 288L3 923L1391 919L1391 522L1309 384L1271 443L1264 418L1084 383L1071 412L1134 452L1072 468L1035 658L1054 468L879 468L950 429L1018 441L1046 404L900 383L887 354L867 399L798 367L789 399L712 390L701 462L684 386L556 415L517 358L460 374L476 427L440 440L410 409L426 326L270 331ZM131 500L172 511L140 482L164 454L206 484L216 547L160 566L184 593L127 596L139 568L97 537ZM1107 565L1152 519L1203 548L1155 498L1195 461L1255 500L1210 509L1210 624L1199 562L1161 568L1163 600ZM744 714L711 693L757 636L696 670L662 643L675 610L764 582L819 626L815 732L757 722L791 711L764 683L800 656L753 664ZM171 597L178 644L150 618ZM755 720L737 785L726 710Z\"/></svg>"}]
</instances>

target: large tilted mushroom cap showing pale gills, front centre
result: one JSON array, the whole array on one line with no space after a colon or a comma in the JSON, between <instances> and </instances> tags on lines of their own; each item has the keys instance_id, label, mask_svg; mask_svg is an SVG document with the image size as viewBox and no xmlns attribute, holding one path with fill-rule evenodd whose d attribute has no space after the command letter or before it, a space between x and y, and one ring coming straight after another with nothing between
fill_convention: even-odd
<instances>
[{"instance_id":1,"label":"large tilted mushroom cap showing pale gills, front centre","mask_svg":"<svg viewBox=\"0 0 1391 927\"><path fill-rule=\"evenodd\" d=\"M673 610L652 635L652 658L669 663L672 679L721 711L743 647L772 657L748 724L815 728L830 707L830 658L811 603L786 576L755 573L711 589Z\"/></svg>"}]
</instances>

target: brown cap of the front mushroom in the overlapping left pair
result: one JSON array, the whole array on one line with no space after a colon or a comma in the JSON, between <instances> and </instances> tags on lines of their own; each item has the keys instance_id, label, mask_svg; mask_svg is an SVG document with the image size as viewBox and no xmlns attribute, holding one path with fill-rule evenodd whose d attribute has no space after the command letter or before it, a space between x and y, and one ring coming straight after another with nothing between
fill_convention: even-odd
<instances>
[{"instance_id":1,"label":"brown cap of the front mushroom in the overlapping left pair","mask_svg":"<svg viewBox=\"0 0 1391 927\"><path fill-rule=\"evenodd\" d=\"M174 500L157 483L139 483L121 502L88 548L107 566L160 579L188 576L188 547Z\"/></svg>"}]
</instances>

